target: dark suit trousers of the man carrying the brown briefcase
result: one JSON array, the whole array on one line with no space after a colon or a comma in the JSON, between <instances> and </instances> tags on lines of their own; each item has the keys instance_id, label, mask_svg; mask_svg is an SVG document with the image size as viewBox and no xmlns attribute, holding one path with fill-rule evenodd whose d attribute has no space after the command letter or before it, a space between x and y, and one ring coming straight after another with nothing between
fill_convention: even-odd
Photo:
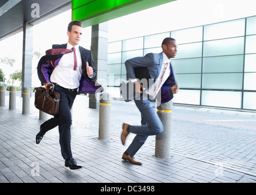
<instances>
[{"instance_id":1,"label":"dark suit trousers of the man carrying the brown briefcase","mask_svg":"<svg viewBox=\"0 0 256 195\"><path fill-rule=\"evenodd\" d=\"M77 96L77 91L69 91L66 88L55 85L55 91L60 94L59 113L54 118L45 121L41 127L43 134L59 126L59 143L61 145L61 154L64 159L72 158L70 147L71 132L70 127L72 124L72 116L70 109L72 108L73 101Z\"/></svg>"}]
</instances>

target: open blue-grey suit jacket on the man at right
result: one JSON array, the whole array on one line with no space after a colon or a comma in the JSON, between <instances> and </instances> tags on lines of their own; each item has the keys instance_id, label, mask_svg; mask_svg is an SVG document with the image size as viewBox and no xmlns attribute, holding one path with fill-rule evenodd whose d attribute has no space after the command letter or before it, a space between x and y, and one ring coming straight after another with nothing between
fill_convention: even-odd
<instances>
[{"instance_id":1,"label":"open blue-grey suit jacket on the man at right","mask_svg":"<svg viewBox=\"0 0 256 195\"><path fill-rule=\"evenodd\" d=\"M154 79L154 82L160 74L160 69L163 62L162 52L159 54L149 53L144 57L135 57L126 61L127 80L130 79ZM151 82L148 82L151 83ZM175 74L170 63L170 76L162 85L161 99L162 103L168 102L173 99L171 87L176 85ZM149 86L150 87L150 86Z\"/></svg>"}]
</instances>

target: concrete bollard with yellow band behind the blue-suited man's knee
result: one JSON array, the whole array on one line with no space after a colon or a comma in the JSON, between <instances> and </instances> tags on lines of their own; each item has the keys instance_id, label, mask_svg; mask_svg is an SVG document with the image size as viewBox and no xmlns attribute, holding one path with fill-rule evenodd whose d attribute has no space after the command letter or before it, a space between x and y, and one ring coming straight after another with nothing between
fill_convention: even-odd
<instances>
[{"instance_id":1,"label":"concrete bollard with yellow band behind the blue-suited man's knee","mask_svg":"<svg viewBox=\"0 0 256 195\"><path fill-rule=\"evenodd\" d=\"M164 125L164 131L156 135L155 156L168 159L171 157L171 107L173 102L169 101L157 107L157 115Z\"/></svg>"}]
</instances>

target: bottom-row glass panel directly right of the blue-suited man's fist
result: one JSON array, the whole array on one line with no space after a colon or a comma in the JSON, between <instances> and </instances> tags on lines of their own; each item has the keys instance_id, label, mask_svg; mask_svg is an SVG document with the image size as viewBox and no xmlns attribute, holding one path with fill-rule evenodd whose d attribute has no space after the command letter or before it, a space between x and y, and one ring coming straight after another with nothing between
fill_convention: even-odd
<instances>
[{"instance_id":1,"label":"bottom-row glass panel directly right of the blue-suited man's fist","mask_svg":"<svg viewBox=\"0 0 256 195\"><path fill-rule=\"evenodd\" d=\"M200 90L179 90L174 96L174 103L200 105Z\"/></svg>"}]
</instances>

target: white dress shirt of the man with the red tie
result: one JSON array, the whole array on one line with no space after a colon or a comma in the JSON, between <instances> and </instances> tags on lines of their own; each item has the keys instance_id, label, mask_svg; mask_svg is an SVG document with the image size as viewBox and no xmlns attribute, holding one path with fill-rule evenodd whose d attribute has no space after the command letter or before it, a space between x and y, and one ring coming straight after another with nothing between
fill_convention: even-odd
<instances>
[{"instance_id":1,"label":"white dress shirt of the man with the red tie","mask_svg":"<svg viewBox=\"0 0 256 195\"><path fill-rule=\"evenodd\" d=\"M72 49L73 46L67 43L67 49ZM80 85L80 79L82 75L81 66L81 54L79 45L75 46L75 54L77 55L77 69L74 71L74 57L73 52L64 54L59 61L58 66L53 70L50 80L53 83L58 83L61 87L75 89Z\"/></svg>"}]
</instances>

